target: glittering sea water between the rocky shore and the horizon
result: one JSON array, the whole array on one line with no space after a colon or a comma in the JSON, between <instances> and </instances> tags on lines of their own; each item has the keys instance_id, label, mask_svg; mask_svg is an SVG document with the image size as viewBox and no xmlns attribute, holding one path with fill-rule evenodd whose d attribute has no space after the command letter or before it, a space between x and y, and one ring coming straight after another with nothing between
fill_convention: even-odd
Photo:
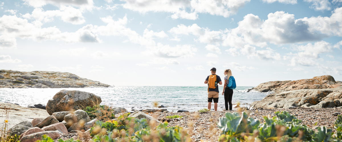
<instances>
[{"instance_id":1,"label":"glittering sea water between the rocky shore and the horizon","mask_svg":"<svg viewBox=\"0 0 342 142\"><path fill-rule=\"evenodd\" d=\"M233 94L233 106L240 102L240 106L249 107L253 101L263 99L268 93L244 92L251 86L238 86ZM158 109L158 105L167 106L168 111L188 110L197 111L207 108L206 86L113 86L109 88L64 88L65 90L79 90L94 93L102 98L102 105L124 107L127 111L141 109ZM218 110L224 109L222 87L220 89ZM49 99L63 88L49 89L11 89L0 88L0 101L16 103L27 107L30 104L47 104ZM239 92L238 92L238 91ZM212 103L213 104L213 103ZM133 108L134 107L134 108ZM213 105L211 109L213 109Z\"/></svg>"}]
</instances>

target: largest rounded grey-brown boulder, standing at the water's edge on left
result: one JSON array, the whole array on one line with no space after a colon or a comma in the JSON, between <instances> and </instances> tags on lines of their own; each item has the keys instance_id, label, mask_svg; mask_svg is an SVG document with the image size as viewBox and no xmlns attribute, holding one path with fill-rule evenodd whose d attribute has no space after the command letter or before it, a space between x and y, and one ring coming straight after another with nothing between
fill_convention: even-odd
<instances>
[{"instance_id":1,"label":"largest rounded grey-brown boulder, standing at the water's edge on left","mask_svg":"<svg viewBox=\"0 0 342 142\"><path fill-rule=\"evenodd\" d=\"M93 93L61 90L48 101L46 110L52 115L54 112L75 111L87 106L93 107L101 102L101 97Z\"/></svg>"}]
</instances>

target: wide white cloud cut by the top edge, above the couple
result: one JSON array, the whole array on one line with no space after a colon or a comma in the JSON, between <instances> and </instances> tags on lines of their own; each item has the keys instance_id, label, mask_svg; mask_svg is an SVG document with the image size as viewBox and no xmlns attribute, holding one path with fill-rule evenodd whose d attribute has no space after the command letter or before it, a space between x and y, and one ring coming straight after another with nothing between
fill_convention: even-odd
<instances>
[{"instance_id":1,"label":"wide white cloud cut by the top edge, above the couple","mask_svg":"<svg viewBox=\"0 0 342 142\"><path fill-rule=\"evenodd\" d=\"M140 13L167 12L172 13L171 18L197 19L198 13L208 13L229 17L250 0L121 0L123 7Z\"/></svg>"}]
</instances>

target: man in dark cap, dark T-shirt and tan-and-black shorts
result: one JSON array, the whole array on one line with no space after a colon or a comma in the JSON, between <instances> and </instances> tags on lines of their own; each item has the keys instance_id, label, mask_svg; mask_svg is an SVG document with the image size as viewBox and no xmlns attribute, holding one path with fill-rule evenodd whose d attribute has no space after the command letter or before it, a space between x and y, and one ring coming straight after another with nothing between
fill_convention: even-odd
<instances>
[{"instance_id":1,"label":"man in dark cap, dark T-shirt and tan-and-black shorts","mask_svg":"<svg viewBox=\"0 0 342 142\"><path fill-rule=\"evenodd\" d=\"M217 83L219 83L220 85L222 85L222 81L221 78L216 75L216 68L211 68L211 75L209 75L206 80L204 81L204 84L207 84L209 81L209 77L215 77L216 76L216 80L215 80L215 86L216 88L213 87L209 87L208 84L208 109L211 109L211 102L212 100L214 100L214 109L215 111L217 111L217 103L219 102L219 85L217 85Z\"/></svg>"}]
</instances>

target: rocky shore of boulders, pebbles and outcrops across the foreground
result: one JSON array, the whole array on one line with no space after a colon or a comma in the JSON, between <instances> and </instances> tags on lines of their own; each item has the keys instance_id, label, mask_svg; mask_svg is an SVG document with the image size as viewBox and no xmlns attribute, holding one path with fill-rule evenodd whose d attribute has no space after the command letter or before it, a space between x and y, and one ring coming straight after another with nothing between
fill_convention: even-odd
<instances>
[{"instance_id":1,"label":"rocky shore of boulders, pebbles and outcrops across the foreground","mask_svg":"<svg viewBox=\"0 0 342 142\"><path fill-rule=\"evenodd\" d=\"M273 88L268 87L270 91L276 93L267 95L263 100L253 102L250 107L252 110L237 107L234 111L188 112L179 110L178 112L169 112L167 106L161 105L158 109L134 110L130 112L131 114L128 117L145 118L148 122L153 121L156 124L168 122L168 127L183 127L191 140L196 142L202 140L218 141L221 130L218 128L217 123L219 118L225 117L228 112L241 114L244 111L249 117L264 123L264 117L272 118L275 116L274 112L276 111L287 111L301 120L301 124L306 125L308 128L316 130L316 127L325 126L336 131L333 123L337 120L337 115L342 113L342 88L339 86L341 83L334 81L331 76L315 77L313 80L306 81L306 84L298 84L301 81L295 81L297 83L292 82L290 84L292 87L289 87L289 84L286 85L291 81L282 82L284 84L280 83L281 85L278 86L273 85ZM319 85L312 82L324 82L325 84ZM254 90L264 91L265 89L261 88L265 86L265 83L262 84L254 88ZM302 89L303 85L308 86L308 88L316 88ZM285 89L280 90L279 88ZM54 141L74 138L88 142L93 138L90 136L90 128L98 120L106 120L100 118L100 116L92 118L93 116L90 117L92 114L87 110L84 111L84 109L87 106L98 106L101 101L101 97L92 93L61 90L48 101L46 110L25 108L8 103L0 103L0 109L8 110L10 108L8 128L11 128L12 134L21 135L21 141L23 142L34 142L41 139L44 134ZM103 107L103 110L110 110L110 113L115 115L115 119L107 118L110 121L116 121L119 116L128 113L124 108L109 109ZM173 118L176 115L179 116ZM4 117L0 117L0 119L0 125L3 125L3 122L5 122Z\"/></svg>"}]
</instances>

